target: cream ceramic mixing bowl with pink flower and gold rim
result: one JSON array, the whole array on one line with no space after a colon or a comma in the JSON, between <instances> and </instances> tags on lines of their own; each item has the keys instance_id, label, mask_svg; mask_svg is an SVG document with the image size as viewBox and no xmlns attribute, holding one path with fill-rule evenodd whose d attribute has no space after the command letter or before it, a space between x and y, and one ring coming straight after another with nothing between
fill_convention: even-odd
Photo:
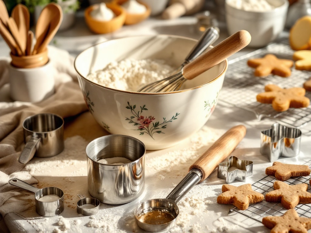
<instances>
[{"instance_id":1,"label":"cream ceramic mixing bowl with pink flower and gold rim","mask_svg":"<svg viewBox=\"0 0 311 233\"><path fill-rule=\"evenodd\" d=\"M178 67L195 43L194 39L172 35L133 36L105 41L80 53L74 67L95 120L111 134L139 139L147 150L167 148L189 138L215 109L227 60L187 80L182 89L175 92L122 91L98 85L86 77L110 62L129 58L161 59Z\"/></svg>"}]
</instances>

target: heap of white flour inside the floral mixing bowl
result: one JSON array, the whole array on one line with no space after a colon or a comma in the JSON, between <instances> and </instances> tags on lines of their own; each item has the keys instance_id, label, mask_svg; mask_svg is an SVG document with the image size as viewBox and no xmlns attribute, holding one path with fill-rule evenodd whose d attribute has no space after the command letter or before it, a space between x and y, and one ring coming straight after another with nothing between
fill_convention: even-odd
<instances>
[{"instance_id":1,"label":"heap of white flour inside the floral mixing bowl","mask_svg":"<svg viewBox=\"0 0 311 233\"><path fill-rule=\"evenodd\" d=\"M105 87L137 91L148 83L168 77L173 69L165 60L125 59L111 62L104 69L92 72L86 78Z\"/></svg>"}]
</instances>

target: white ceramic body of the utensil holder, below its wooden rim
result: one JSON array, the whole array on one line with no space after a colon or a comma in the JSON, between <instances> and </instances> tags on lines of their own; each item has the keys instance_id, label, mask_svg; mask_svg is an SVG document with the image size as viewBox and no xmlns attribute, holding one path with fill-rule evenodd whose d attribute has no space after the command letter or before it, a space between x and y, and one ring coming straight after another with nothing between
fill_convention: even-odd
<instances>
[{"instance_id":1,"label":"white ceramic body of the utensil holder, below its wooden rim","mask_svg":"<svg viewBox=\"0 0 311 233\"><path fill-rule=\"evenodd\" d=\"M15 101L39 102L55 91L51 62L35 68L16 68L9 65L10 95Z\"/></svg>"}]
</instances>

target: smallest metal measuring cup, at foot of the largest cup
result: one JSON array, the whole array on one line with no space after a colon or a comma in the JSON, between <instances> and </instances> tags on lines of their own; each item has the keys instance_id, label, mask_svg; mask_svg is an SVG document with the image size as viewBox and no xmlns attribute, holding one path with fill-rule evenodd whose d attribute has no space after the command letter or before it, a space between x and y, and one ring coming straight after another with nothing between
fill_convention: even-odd
<instances>
[{"instance_id":1,"label":"smallest metal measuring cup, at foot of the largest cup","mask_svg":"<svg viewBox=\"0 0 311 233\"><path fill-rule=\"evenodd\" d=\"M85 197L83 194L77 194L80 200L77 202L77 212L86 216L97 214L100 201L96 198Z\"/></svg>"}]
</instances>

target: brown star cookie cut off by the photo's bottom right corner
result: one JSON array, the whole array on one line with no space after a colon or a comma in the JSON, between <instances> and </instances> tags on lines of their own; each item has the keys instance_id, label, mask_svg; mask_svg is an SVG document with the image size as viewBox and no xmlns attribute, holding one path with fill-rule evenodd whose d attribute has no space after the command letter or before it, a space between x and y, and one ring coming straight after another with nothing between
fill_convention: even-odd
<instances>
[{"instance_id":1,"label":"brown star cookie cut off by the photo's bottom right corner","mask_svg":"<svg viewBox=\"0 0 311 233\"><path fill-rule=\"evenodd\" d=\"M262 218L262 224L277 232L307 233L311 228L311 218L299 217L295 209L289 209L283 216L267 216Z\"/></svg>"}]
</instances>

